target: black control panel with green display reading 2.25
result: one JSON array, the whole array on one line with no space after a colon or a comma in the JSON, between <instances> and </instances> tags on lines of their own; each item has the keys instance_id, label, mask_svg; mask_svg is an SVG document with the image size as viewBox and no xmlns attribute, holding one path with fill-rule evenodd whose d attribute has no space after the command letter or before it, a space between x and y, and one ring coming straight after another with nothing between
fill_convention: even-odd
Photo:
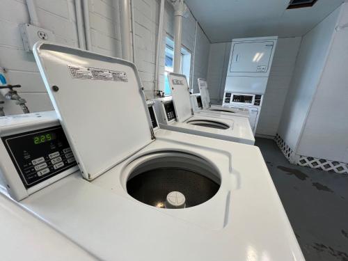
<instances>
[{"instance_id":1,"label":"black control panel with green display reading 2.25","mask_svg":"<svg viewBox=\"0 0 348 261\"><path fill-rule=\"evenodd\" d=\"M60 125L1 139L26 188L77 164Z\"/></svg>"}]
</instances>

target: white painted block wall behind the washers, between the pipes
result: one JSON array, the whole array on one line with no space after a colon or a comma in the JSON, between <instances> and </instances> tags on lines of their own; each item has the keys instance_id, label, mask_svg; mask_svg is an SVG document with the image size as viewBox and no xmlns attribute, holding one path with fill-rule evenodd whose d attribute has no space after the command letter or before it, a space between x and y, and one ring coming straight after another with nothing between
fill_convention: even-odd
<instances>
[{"instance_id":1,"label":"white painted block wall behind the washers, between the pipes","mask_svg":"<svg viewBox=\"0 0 348 261\"><path fill-rule=\"evenodd\" d=\"M38 17L43 28L53 31L56 42L78 47L76 13L74 0L35 0ZM118 0L89 0L90 31L93 52L108 56L121 56L120 16ZM155 50L159 16L158 0L134 0L135 21L135 63L144 86L145 95L154 95ZM52 104L42 83L33 54L24 52L19 24L29 23L29 13L24 0L0 0L0 67L6 68L6 78L10 84L21 84L20 94L27 100L31 111L51 110ZM207 77L209 40L191 13L183 19L182 44L192 53L196 49L194 68L191 75ZM173 8L166 3L164 30L160 58L160 88L164 88L164 43L166 33L173 35ZM195 47L196 42L196 47ZM191 77L192 78L192 77ZM3 100L0 97L0 100ZM6 114L22 113L15 102L6 101Z\"/></svg>"}]
</instances>

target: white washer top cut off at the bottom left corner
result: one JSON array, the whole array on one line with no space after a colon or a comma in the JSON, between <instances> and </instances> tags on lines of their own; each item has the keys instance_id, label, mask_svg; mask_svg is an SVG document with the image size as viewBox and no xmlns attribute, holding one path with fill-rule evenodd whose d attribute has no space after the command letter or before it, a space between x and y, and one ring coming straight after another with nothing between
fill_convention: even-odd
<instances>
[{"instance_id":1,"label":"white washer top cut off at the bottom left corner","mask_svg":"<svg viewBox=\"0 0 348 261\"><path fill-rule=\"evenodd\" d=\"M1 260L96 260L1 193L0 220Z\"/></svg>"}]
</instances>

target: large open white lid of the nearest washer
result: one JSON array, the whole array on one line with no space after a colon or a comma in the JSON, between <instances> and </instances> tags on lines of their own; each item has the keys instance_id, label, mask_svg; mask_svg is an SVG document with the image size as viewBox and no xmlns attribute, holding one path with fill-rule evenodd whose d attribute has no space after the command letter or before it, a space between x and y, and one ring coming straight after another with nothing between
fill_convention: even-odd
<instances>
[{"instance_id":1,"label":"large open white lid of the nearest washer","mask_svg":"<svg viewBox=\"0 0 348 261\"><path fill-rule=\"evenodd\" d=\"M36 43L33 51L87 180L155 139L133 63L47 42Z\"/></svg>"}]
</instances>

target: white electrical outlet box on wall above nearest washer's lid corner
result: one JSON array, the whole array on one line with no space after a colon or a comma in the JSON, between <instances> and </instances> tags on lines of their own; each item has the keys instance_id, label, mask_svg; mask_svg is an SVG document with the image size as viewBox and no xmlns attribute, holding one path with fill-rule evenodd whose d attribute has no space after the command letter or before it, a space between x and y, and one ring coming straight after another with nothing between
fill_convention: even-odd
<instances>
[{"instance_id":1,"label":"white electrical outlet box on wall above nearest washer's lid corner","mask_svg":"<svg viewBox=\"0 0 348 261\"><path fill-rule=\"evenodd\" d=\"M26 52L33 51L35 42L42 40L54 42L56 40L56 36L52 31L33 26L32 24L20 24L19 30L22 34L23 45Z\"/></svg>"}]
</instances>

